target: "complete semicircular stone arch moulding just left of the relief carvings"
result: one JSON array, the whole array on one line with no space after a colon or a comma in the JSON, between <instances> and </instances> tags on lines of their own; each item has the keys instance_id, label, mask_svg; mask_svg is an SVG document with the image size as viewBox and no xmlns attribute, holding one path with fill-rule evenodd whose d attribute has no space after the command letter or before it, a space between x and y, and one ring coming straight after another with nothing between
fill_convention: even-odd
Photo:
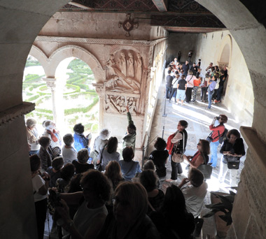
<instances>
[{"instance_id":1,"label":"complete semicircular stone arch moulding just left of the relief carvings","mask_svg":"<svg viewBox=\"0 0 266 239\"><path fill-rule=\"evenodd\" d=\"M77 57L83 60L92 69L96 82L104 81L105 72L97 57L85 48L77 45L66 45L52 52L52 55L48 58L49 70L47 76L51 78L55 77L55 71L59 63L69 57Z\"/></svg>"}]
</instances>

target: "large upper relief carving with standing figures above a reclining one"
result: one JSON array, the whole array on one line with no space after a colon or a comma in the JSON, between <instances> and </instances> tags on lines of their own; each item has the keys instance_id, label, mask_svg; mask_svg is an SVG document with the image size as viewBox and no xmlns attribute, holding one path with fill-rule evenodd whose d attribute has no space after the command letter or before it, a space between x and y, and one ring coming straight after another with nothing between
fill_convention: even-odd
<instances>
[{"instance_id":1,"label":"large upper relief carving with standing figures above a reclining one","mask_svg":"<svg viewBox=\"0 0 266 239\"><path fill-rule=\"evenodd\" d=\"M106 90L131 94L140 93L140 80L143 71L140 54L137 55L133 51L126 50L117 52L116 55L111 54L104 68L106 69Z\"/></svg>"}]
</instances>

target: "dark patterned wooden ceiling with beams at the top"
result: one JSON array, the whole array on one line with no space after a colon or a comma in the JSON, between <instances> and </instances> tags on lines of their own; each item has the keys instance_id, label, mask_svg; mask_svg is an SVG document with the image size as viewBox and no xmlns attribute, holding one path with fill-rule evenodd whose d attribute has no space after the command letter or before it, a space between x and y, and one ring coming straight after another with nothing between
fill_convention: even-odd
<instances>
[{"instance_id":1,"label":"dark patterned wooden ceiling with beams at the top","mask_svg":"<svg viewBox=\"0 0 266 239\"><path fill-rule=\"evenodd\" d=\"M74 0L61 11L146 13L152 26L171 32L207 33L225 29L214 14L194 0Z\"/></svg>"}]
</instances>

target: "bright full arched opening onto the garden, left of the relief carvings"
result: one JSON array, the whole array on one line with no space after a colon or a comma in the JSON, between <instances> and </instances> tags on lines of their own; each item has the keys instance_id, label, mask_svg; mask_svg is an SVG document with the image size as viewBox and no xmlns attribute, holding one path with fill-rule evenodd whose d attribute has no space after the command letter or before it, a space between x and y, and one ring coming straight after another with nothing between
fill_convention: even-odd
<instances>
[{"instance_id":1,"label":"bright full arched opening onto the garden, left of the relief carvings","mask_svg":"<svg viewBox=\"0 0 266 239\"><path fill-rule=\"evenodd\" d=\"M81 122L85 131L97 133L99 96L92 85L95 79L90 66L82 59L66 58L58 64L55 79L57 126L67 133L73 132L73 126Z\"/></svg>"}]
</instances>

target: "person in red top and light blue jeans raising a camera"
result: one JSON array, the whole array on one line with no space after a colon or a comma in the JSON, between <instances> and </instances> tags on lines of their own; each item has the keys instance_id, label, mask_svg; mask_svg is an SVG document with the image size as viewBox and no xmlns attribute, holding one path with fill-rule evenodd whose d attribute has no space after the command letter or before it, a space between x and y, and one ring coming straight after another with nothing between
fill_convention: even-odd
<instances>
[{"instance_id":1,"label":"person in red top and light blue jeans raising a camera","mask_svg":"<svg viewBox=\"0 0 266 239\"><path fill-rule=\"evenodd\" d=\"M218 125L214 126L216 120L218 121ZM217 164L217 149L219 145L219 138L223 135L223 132L225 131L224 124L228 122L228 117L226 115L219 115L218 117L214 117L213 121L211 122L211 125L209 126L209 129L212 131L211 135L211 160L209 161L209 164L213 168L216 168Z\"/></svg>"}]
</instances>

